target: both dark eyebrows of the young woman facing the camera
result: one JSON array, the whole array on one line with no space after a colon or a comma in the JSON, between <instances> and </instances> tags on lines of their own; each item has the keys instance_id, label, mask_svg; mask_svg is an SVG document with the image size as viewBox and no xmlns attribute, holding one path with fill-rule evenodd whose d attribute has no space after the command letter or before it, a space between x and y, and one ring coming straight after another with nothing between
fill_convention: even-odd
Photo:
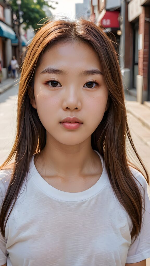
<instances>
[{"instance_id":1,"label":"both dark eyebrows of the young woman facing the camera","mask_svg":"<svg viewBox=\"0 0 150 266\"><path fill-rule=\"evenodd\" d=\"M67 75L67 72L61 69L51 68L48 67L44 69L40 74L59 74L59 75ZM89 70L82 70L79 73L79 76L88 76L88 75L102 75L102 72L98 68L89 69Z\"/></svg>"}]
</instances>

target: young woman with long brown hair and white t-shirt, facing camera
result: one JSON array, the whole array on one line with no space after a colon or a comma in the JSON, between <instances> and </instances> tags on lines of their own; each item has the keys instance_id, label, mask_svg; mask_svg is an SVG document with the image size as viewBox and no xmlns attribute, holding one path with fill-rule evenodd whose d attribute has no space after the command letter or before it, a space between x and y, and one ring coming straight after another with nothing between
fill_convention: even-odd
<instances>
[{"instance_id":1,"label":"young woman with long brown hair and white t-shirt, facing camera","mask_svg":"<svg viewBox=\"0 0 150 266\"><path fill-rule=\"evenodd\" d=\"M145 177L127 158L128 139ZM0 178L0 265L146 265L149 177L115 49L94 23L53 19L27 47Z\"/></svg>"}]
</instances>

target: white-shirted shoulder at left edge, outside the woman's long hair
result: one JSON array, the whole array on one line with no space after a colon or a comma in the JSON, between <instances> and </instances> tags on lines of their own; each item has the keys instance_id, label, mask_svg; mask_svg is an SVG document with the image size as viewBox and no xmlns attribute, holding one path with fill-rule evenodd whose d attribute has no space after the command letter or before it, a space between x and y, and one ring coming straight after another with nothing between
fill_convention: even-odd
<instances>
[{"instance_id":1,"label":"white-shirted shoulder at left edge, outside the woman's long hair","mask_svg":"<svg viewBox=\"0 0 150 266\"><path fill-rule=\"evenodd\" d=\"M0 196L5 197L6 190L11 180L12 170L0 170Z\"/></svg>"}]
</instances>

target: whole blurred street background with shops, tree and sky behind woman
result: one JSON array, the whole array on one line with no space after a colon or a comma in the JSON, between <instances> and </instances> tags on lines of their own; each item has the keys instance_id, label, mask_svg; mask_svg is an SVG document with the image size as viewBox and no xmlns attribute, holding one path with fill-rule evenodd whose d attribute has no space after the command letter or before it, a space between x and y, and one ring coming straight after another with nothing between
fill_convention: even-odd
<instances>
[{"instance_id":1,"label":"whole blurred street background with shops, tree and sky behind woman","mask_svg":"<svg viewBox=\"0 0 150 266\"><path fill-rule=\"evenodd\" d=\"M38 28L55 14L91 20L113 41L131 135L150 174L150 0L0 0L0 164L15 138L19 65Z\"/></svg>"}]
</instances>

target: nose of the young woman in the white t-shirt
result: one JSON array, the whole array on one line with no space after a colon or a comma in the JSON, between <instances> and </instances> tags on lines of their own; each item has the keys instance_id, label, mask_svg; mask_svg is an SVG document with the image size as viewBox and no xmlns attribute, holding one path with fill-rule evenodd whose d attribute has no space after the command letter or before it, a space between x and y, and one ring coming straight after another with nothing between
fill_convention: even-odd
<instances>
[{"instance_id":1,"label":"nose of the young woman in the white t-shirt","mask_svg":"<svg viewBox=\"0 0 150 266\"><path fill-rule=\"evenodd\" d=\"M63 95L62 108L66 109L81 109L81 93L73 86L65 90Z\"/></svg>"}]
</instances>

